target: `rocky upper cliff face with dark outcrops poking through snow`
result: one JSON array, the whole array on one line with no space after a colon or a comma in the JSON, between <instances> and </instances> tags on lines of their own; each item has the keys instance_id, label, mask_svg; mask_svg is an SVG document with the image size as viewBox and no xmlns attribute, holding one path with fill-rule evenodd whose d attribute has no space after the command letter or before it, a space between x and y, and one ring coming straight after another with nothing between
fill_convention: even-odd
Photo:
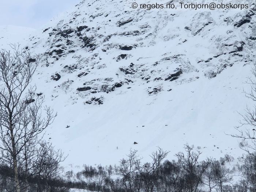
<instances>
[{"instance_id":1,"label":"rocky upper cliff face with dark outcrops poking through snow","mask_svg":"<svg viewBox=\"0 0 256 192\"><path fill-rule=\"evenodd\" d=\"M163 83L215 78L253 61L255 5L244 11L174 11L131 4L82 1L42 37L31 38L29 48L42 54L42 68L54 66L59 78L52 80L68 85L72 94L93 97L87 104L102 104L95 102L102 92L121 86L147 83L148 94L157 94L168 90ZM63 82L67 74L72 79Z\"/></svg>"}]
</instances>

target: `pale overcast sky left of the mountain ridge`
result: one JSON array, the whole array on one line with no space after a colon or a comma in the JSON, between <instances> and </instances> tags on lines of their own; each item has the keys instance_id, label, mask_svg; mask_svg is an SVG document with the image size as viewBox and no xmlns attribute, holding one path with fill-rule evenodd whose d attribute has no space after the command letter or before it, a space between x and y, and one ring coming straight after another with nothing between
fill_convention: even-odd
<instances>
[{"instance_id":1,"label":"pale overcast sky left of the mountain ridge","mask_svg":"<svg viewBox=\"0 0 256 192\"><path fill-rule=\"evenodd\" d=\"M0 25L41 28L81 0L1 0Z\"/></svg>"}]
</instances>

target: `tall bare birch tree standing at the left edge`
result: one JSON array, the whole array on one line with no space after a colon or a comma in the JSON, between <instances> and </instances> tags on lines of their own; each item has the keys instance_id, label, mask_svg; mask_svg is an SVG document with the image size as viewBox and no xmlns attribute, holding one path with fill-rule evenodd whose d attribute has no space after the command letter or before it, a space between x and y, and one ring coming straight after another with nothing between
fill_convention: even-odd
<instances>
[{"instance_id":1,"label":"tall bare birch tree standing at the left edge","mask_svg":"<svg viewBox=\"0 0 256 192\"><path fill-rule=\"evenodd\" d=\"M19 46L11 47L12 52L0 50L0 159L13 168L15 189L20 192L20 174L29 171L41 133L56 114L43 108L36 87L30 86L38 57L31 58Z\"/></svg>"}]
</instances>

